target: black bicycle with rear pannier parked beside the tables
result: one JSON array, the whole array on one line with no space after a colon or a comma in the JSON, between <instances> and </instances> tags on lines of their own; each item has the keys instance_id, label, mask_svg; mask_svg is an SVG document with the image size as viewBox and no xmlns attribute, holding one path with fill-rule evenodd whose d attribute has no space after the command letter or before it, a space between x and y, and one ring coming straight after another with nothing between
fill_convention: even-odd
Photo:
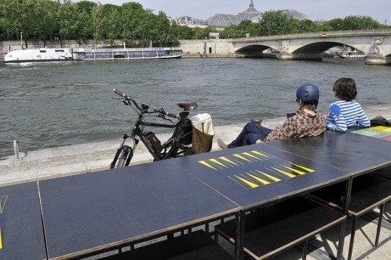
<instances>
[{"instance_id":1,"label":"black bicycle with rear pannier parked beside the tables","mask_svg":"<svg viewBox=\"0 0 391 260\"><path fill-rule=\"evenodd\" d=\"M147 150L154 158L154 161L195 154L192 147L193 124L188 116L189 110L198 108L197 103L178 103L177 106L183 110L179 115L175 115L167 113L164 108L150 108L150 106L146 104L141 104L140 106L132 97L129 97L117 89L113 89L113 91L115 94L119 95L119 97L113 97L113 99L119 99L126 106L131 106L138 114L138 117L134 123L131 134L123 134L123 139L115 153L115 157L112 160L112 163L110 163L110 169L128 166L140 140L145 147L147 147ZM151 114L154 114L156 117L163 120L170 121L170 123L145 121L145 117ZM174 122L167 117L176 119L176 121ZM171 137L162 144L154 132L144 131L145 126L174 128L174 132L171 134ZM132 146L125 144L127 139L132 139Z\"/></svg>"}]
</instances>

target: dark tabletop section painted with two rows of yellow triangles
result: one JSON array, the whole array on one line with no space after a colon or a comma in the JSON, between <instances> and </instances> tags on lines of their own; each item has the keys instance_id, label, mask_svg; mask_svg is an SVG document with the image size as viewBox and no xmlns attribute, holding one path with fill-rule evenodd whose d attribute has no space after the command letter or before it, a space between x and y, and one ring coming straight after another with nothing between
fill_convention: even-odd
<instances>
[{"instance_id":1,"label":"dark tabletop section painted with two rows of yellow triangles","mask_svg":"<svg viewBox=\"0 0 391 260\"><path fill-rule=\"evenodd\" d=\"M348 172L268 145L198 154L174 163L250 209L350 177Z\"/></svg>"}]
</instances>

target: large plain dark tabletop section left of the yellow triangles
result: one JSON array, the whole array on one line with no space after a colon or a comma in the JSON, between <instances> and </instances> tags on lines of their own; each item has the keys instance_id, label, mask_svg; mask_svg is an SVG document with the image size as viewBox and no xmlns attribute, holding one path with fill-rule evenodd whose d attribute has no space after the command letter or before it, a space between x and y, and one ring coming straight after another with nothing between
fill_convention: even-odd
<instances>
[{"instance_id":1,"label":"large plain dark tabletop section left of the yellow triangles","mask_svg":"<svg viewBox=\"0 0 391 260\"><path fill-rule=\"evenodd\" d=\"M39 184L49 258L106 249L239 211L172 161Z\"/></svg>"}]
</instances>

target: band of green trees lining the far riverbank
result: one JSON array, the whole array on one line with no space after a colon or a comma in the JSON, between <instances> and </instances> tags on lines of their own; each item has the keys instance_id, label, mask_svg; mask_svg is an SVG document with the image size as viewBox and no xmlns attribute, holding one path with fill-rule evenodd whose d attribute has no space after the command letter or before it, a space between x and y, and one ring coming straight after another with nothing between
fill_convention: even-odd
<instances>
[{"instance_id":1,"label":"band of green trees lining the far riverbank","mask_svg":"<svg viewBox=\"0 0 391 260\"><path fill-rule=\"evenodd\" d=\"M259 23L242 21L225 29L177 25L164 12L154 14L139 3L122 5L71 0L1 0L0 40L86 40L112 45L121 40L127 47L169 47L180 39L205 39L390 28L369 16L346 16L330 21L298 20L279 11L263 13Z\"/></svg>"}]
</instances>

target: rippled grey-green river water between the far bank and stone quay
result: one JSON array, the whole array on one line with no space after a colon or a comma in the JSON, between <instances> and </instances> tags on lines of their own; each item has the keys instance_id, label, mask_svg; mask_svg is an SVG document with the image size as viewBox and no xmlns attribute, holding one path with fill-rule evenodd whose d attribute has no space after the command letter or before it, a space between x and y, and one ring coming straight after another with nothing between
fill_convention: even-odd
<instances>
[{"instance_id":1,"label":"rippled grey-green river water between the far bank and stone quay","mask_svg":"<svg viewBox=\"0 0 391 260\"><path fill-rule=\"evenodd\" d=\"M178 113L197 102L215 126L252 117L284 117L296 110L296 88L320 88L326 113L337 78L355 79L366 110L390 109L391 67L364 61L281 61L250 58L0 64L0 157L21 151L108 139L129 132L135 114L112 99L112 88L155 108ZM156 129L154 132L161 132Z\"/></svg>"}]
</instances>

